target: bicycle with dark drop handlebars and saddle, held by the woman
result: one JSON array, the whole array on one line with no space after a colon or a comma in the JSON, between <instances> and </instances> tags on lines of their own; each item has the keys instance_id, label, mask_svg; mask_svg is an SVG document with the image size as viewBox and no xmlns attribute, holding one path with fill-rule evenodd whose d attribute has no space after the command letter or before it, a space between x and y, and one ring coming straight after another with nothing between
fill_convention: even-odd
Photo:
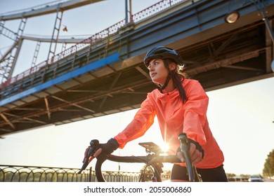
<instances>
[{"instance_id":1,"label":"bicycle with dark drop handlebars and saddle, held by the woman","mask_svg":"<svg viewBox=\"0 0 274 196\"><path fill-rule=\"evenodd\" d=\"M188 153L189 143L188 143L188 138L186 137L186 134L180 134L178 139L180 141L181 152L183 153L183 157L185 159L189 181L190 182L194 182L195 180L202 181L200 175L197 174L197 170L195 166L191 162L190 155ZM181 162L181 160L179 160L176 155L161 155L161 153L164 153L164 152L157 144L154 144L153 142L143 142L143 143L139 143L139 145L145 148L145 152L148 153L148 155L145 155L145 156L117 156L117 155L100 156L99 155L97 157L96 167L95 167L96 178L98 182L105 182L105 178L101 170L101 167L103 165L103 162L105 162L105 160L110 160L113 162L143 162L146 164L147 167L150 167L150 169L152 169L152 173L153 173L152 181L155 181L155 182L162 182L161 174L163 172L162 167L164 162L169 162L169 163ZM91 160L89 159L94 158L93 155L98 150L98 146L99 146L99 141L97 139L91 140L90 142L91 148L89 148L89 152L87 153L87 156L78 174L81 174L81 172L84 169L86 169L86 167L89 165L89 162L91 162ZM144 172L145 172L145 169L143 169L143 172L141 174L139 181L144 181Z\"/></svg>"}]
</instances>

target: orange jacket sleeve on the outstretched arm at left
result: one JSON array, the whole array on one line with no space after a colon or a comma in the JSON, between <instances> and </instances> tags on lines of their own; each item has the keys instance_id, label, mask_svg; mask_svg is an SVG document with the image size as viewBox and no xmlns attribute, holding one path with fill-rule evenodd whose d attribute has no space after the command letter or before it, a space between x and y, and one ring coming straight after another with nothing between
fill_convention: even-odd
<instances>
[{"instance_id":1,"label":"orange jacket sleeve on the outstretched arm at left","mask_svg":"<svg viewBox=\"0 0 274 196\"><path fill-rule=\"evenodd\" d=\"M119 148L124 148L127 142L143 136L154 123L154 118L155 110L153 109L150 99L147 97L141 104L141 108L137 111L131 123L114 137L119 144Z\"/></svg>"}]
</instances>

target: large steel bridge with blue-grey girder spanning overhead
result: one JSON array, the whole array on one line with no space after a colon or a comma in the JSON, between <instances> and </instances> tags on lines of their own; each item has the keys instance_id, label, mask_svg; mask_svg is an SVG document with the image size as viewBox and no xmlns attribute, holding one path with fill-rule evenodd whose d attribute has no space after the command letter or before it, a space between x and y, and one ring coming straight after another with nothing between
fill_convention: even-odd
<instances>
[{"instance_id":1,"label":"large steel bridge with blue-grey girder spanning overhead","mask_svg":"<svg viewBox=\"0 0 274 196\"><path fill-rule=\"evenodd\" d=\"M95 2L62 1L0 16L0 33L14 41L0 61L0 136L138 108L155 88L143 57L157 45L176 49L207 91L273 77L273 0L163 0L93 36L59 37L63 11ZM59 25L51 37L23 34L25 18L52 11ZM224 18L233 11L240 18L229 24ZM22 18L18 33L4 26L15 18ZM34 55L32 67L13 76L24 38L50 42L48 58L36 64ZM57 52L59 42L75 45Z\"/></svg>"}]
</instances>

